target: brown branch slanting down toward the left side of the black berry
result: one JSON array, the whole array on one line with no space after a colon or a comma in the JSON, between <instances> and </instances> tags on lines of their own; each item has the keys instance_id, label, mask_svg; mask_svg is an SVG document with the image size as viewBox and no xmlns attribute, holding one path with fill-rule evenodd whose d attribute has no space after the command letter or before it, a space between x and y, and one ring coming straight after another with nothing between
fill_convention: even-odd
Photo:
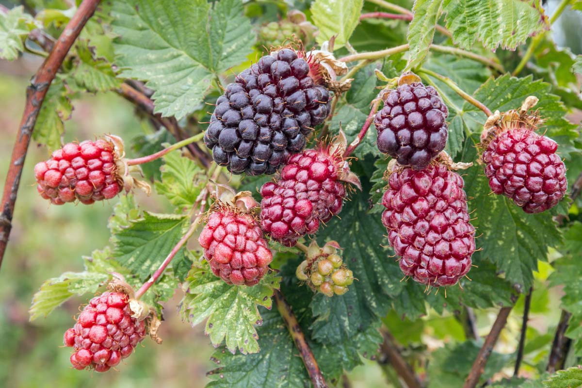
<instances>
[{"instance_id":1,"label":"brown branch slanting down toward the left side of the black berry","mask_svg":"<svg viewBox=\"0 0 582 388\"><path fill-rule=\"evenodd\" d=\"M154 101L152 101L147 95L143 94L143 92L129 86L129 84L123 83L118 88L117 92L122 95L125 99L132 102L133 104L137 105L143 112L147 113L147 115L151 116L151 118L161 126L164 126L169 133L172 134L173 137L176 138L178 141L184 140L186 137L182 133L182 129L176 122L174 118L164 118L161 115L154 113ZM194 158L198 159L205 168L210 166L210 156L204 152L198 145L191 143L186 146L190 154L194 156Z\"/></svg>"}]
</instances>

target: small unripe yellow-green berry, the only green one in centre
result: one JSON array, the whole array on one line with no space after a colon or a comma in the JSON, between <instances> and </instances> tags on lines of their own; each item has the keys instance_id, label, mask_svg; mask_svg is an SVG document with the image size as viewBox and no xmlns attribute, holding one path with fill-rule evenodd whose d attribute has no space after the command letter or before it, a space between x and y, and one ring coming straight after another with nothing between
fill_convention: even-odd
<instances>
[{"instance_id":1,"label":"small unripe yellow-green berry, the only green one in centre","mask_svg":"<svg viewBox=\"0 0 582 388\"><path fill-rule=\"evenodd\" d=\"M353 283L354 276L343 264L339 250L341 247L336 241L328 241L323 247L319 247L315 240L311 241L306 259L297 266L297 279L306 282L314 292L328 297L347 293L347 286Z\"/></svg>"}]
</instances>

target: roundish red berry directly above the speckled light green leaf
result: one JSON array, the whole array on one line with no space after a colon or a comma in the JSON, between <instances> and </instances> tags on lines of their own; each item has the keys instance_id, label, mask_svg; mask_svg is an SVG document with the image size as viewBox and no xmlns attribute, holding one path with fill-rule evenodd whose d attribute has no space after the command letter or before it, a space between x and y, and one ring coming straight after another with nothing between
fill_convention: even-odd
<instances>
[{"instance_id":1,"label":"roundish red berry directly above the speckled light green leaf","mask_svg":"<svg viewBox=\"0 0 582 388\"><path fill-rule=\"evenodd\" d=\"M253 216L229 205L214 209L198 242L214 275L228 284L254 286L273 258Z\"/></svg>"}]
</instances>

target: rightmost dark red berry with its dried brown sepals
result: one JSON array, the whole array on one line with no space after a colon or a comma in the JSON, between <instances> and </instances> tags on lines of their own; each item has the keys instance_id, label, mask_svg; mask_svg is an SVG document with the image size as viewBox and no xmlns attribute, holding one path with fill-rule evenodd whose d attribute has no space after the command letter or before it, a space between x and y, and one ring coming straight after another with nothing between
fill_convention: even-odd
<instances>
[{"instance_id":1,"label":"rightmost dark red berry with its dried brown sepals","mask_svg":"<svg viewBox=\"0 0 582 388\"><path fill-rule=\"evenodd\" d=\"M538 99L526 98L519 110L495 112L481 134L480 162L489 187L510 198L526 213L540 213L558 204L567 190L566 166L558 144L535 132L543 120L528 112Z\"/></svg>"}]
</instances>

